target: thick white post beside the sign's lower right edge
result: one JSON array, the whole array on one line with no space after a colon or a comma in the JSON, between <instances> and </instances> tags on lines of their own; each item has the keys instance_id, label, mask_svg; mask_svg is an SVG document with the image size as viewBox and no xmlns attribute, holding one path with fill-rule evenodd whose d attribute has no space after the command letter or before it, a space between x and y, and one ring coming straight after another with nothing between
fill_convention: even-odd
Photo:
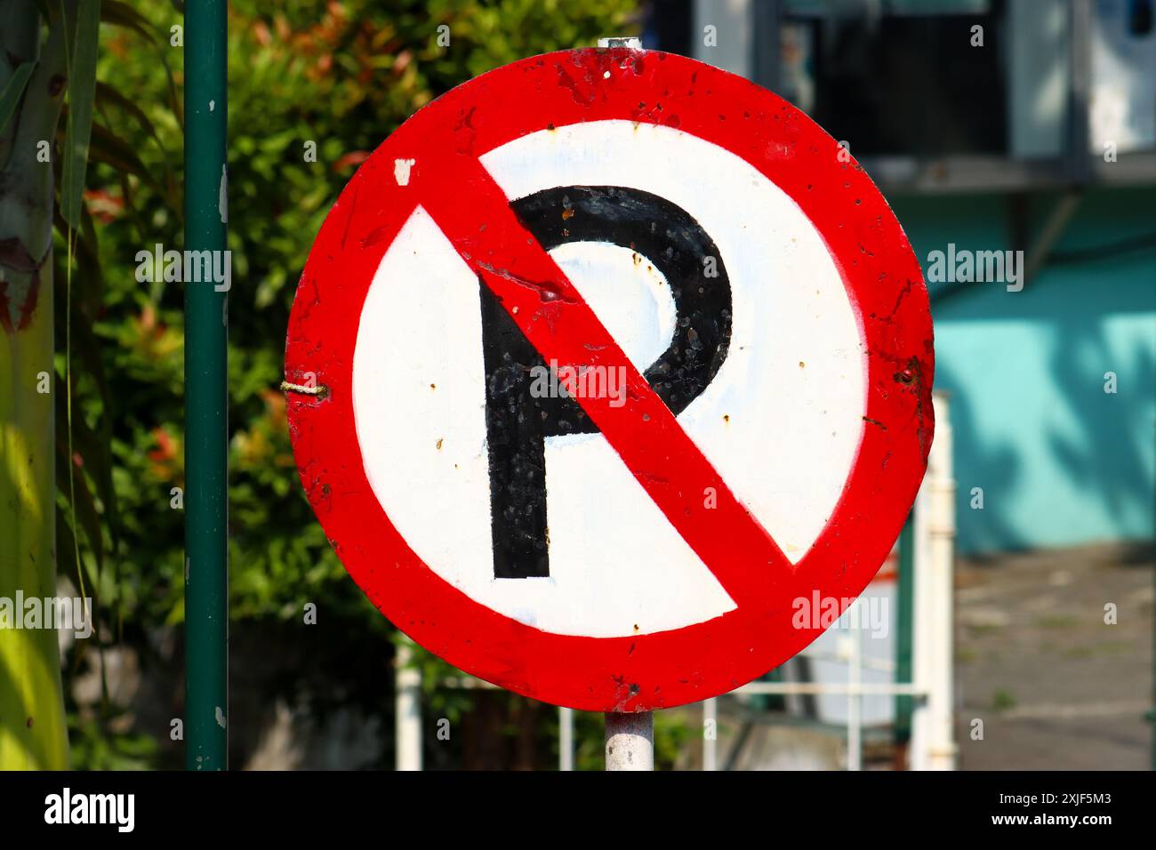
<instances>
[{"instance_id":1,"label":"thick white post beside the sign's lower right edge","mask_svg":"<svg viewBox=\"0 0 1156 850\"><path fill-rule=\"evenodd\" d=\"M927 700L911 718L912 770L954 770L953 574L955 478L947 396L934 393L935 439L916 502L913 668Z\"/></svg>"}]
</instances>

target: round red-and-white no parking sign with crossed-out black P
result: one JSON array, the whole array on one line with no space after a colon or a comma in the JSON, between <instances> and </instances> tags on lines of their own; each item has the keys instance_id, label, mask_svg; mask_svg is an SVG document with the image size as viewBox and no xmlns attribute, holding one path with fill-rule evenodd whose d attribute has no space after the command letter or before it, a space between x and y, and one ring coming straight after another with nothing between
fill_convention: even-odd
<instances>
[{"instance_id":1,"label":"round red-and-white no parking sign with crossed-out black P","mask_svg":"<svg viewBox=\"0 0 1156 850\"><path fill-rule=\"evenodd\" d=\"M682 57L534 57L362 165L290 319L294 451L400 629L520 694L731 690L853 599L933 433L921 272L870 179ZM793 620L795 621L793 623Z\"/></svg>"}]
</instances>

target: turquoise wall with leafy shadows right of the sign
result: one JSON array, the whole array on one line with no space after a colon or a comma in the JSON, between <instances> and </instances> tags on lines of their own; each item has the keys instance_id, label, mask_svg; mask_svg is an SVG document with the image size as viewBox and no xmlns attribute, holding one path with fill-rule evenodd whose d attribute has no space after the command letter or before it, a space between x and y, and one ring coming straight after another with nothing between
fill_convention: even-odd
<instances>
[{"instance_id":1,"label":"turquoise wall with leafy shadows right of the sign","mask_svg":"<svg viewBox=\"0 0 1156 850\"><path fill-rule=\"evenodd\" d=\"M1030 206L1037 232L1055 197ZM998 195L892 198L927 256L1011 249ZM1089 192L1054 251L1156 232L1156 190ZM936 300L935 385L951 394L964 553L1146 540L1156 523L1156 247L1052 264L1009 293L970 283ZM1104 374L1117 393L1104 392ZM984 509L971 508L971 489Z\"/></svg>"}]
</instances>

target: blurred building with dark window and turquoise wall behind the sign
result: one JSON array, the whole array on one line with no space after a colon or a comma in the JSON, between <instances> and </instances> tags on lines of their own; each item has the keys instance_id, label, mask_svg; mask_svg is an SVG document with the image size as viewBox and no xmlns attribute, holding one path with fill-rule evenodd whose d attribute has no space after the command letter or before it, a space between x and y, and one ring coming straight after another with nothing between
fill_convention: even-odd
<instances>
[{"instance_id":1,"label":"blurred building with dark window and turquoise wall behind the sign","mask_svg":"<svg viewBox=\"0 0 1156 850\"><path fill-rule=\"evenodd\" d=\"M788 98L890 200L932 290L961 552L1153 538L1156 0L658 0L644 44ZM944 273L969 252L1008 265Z\"/></svg>"}]
</instances>

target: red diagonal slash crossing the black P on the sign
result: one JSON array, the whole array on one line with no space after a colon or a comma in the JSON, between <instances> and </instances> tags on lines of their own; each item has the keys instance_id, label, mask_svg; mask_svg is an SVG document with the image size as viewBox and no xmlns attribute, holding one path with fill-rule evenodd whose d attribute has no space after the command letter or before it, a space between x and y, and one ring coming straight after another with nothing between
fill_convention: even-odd
<instances>
[{"instance_id":1,"label":"red diagonal slash crossing the black P on the sign","mask_svg":"<svg viewBox=\"0 0 1156 850\"><path fill-rule=\"evenodd\" d=\"M629 402L621 407L608 397L577 398L573 386L568 390L734 603L740 608L756 599L765 604L771 586L790 576L791 562L521 226L481 163L451 158L460 173L453 180L442 173L439 183L462 187L468 200L422 192L423 206L543 360L625 370Z\"/></svg>"}]
</instances>

